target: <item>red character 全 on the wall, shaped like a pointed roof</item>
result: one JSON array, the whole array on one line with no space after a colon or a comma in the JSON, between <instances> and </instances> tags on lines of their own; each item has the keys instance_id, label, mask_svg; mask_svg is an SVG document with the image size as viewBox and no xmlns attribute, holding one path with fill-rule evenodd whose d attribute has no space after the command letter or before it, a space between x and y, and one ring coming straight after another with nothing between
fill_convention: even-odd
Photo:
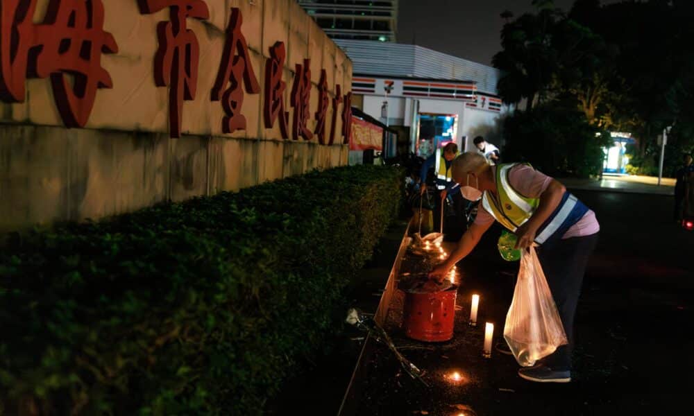
<instances>
[{"instance_id":1,"label":"red character \u5168 on the wall, shaped like a pointed roof","mask_svg":"<svg viewBox=\"0 0 694 416\"><path fill-rule=\"evenodd\" d=\"M248 56L248 44L241 24L243 17L238 8L231 9L229 27L226 29L226 44L224 54L219 64L217 81L212 88L212 101L222 100L222 107L226 116L222 122L222 130L225 133L233 133L236 130L246 130L246 117L241 114L241 106L244 103L244 85L248 94L260 94L255 72ZM242 85L241 81L244 81ZM229 87L221 93L222 89Z\"/></svg>"}]
</instances>

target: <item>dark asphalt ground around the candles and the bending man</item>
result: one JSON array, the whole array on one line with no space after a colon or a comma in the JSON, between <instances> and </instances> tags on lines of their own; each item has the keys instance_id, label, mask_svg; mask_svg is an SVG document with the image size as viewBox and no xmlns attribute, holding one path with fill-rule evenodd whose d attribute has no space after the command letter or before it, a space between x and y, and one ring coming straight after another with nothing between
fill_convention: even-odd
<instances>
[{"instance_id":1,"label":"dark asphalt ground around the candles and the bending man","mask_svg":"<svg viewBox=\"0 0 694 416\"><path fill-rule=\"evenodd\" d=\"M518 263L496 252L494 227L462 262L455 336L432 349L403 351L428 370L431 389L402 374L387 351L360 381L357 415L676 415L688 414L694 387L694 233L671 218L672 197L575 192L597 214L600 243L589 263L577 311L573 381L531 383L514 358L480 357L483 330L466 324L472 293L482 296L480 321L501 340ZM397 314L393 321L398 321ZM397 322L396 342L412 345ZM462 383L444 378L464 374ZM465 412L465 410L463 410ZM471 411L464 413L475 414Z\"/></svg>"}]
</instances>

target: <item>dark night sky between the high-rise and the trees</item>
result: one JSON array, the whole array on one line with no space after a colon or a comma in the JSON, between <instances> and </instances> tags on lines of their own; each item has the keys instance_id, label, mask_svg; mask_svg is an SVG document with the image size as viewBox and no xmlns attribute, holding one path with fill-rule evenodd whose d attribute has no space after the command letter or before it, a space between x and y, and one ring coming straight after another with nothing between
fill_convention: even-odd
<instances>
[{"instance_id":1,"label":"dark night sky between the high-rise and the trees","mask_svg":"<svg viewBox=\"0 0 694 416\"><path fill-rule=\"evenodd\" d=\"M617 2L602 1L602 3ZM565 12L573 0L555 0ZM398 43L418 44L481 64L500 46L502 11L534 11L531 0L400 0ZM414 42L413 42L414 41Z\"/></svg>"}]
</instances>

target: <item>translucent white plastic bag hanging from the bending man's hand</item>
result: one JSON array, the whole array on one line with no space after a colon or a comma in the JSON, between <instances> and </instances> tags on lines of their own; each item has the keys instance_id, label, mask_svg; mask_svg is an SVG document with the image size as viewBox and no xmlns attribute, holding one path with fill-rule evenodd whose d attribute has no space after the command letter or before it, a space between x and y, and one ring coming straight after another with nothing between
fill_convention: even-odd
<instances>
[{"instance_id":1,"label":"translucent white plastic bag hanging from the bending man's hand","mask_svg":"<svg viewBox=\"0 0 694 416\"><path fill-rule=\"evenodd\" d=\"M550 286L532 247L523 250L504 338L523 367L534 365L560 345L568 344Z\"/></svg>"}]
</instances>

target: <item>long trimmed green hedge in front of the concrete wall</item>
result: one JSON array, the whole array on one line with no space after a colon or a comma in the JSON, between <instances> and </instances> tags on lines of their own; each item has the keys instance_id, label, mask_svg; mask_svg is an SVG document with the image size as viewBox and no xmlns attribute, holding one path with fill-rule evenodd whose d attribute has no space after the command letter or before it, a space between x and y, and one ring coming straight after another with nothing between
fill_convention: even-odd
<instances>
[{"instance_id":1,"label":"long trimmed green hedge in front of the concrete wall","mask_svg":"<svg viewBox=\"0 0 694 416\"><path fill-rule=\"evenodd\" d=\"M11 243L0 414L261 413L335 329L400 183L335 168Z\"/></svg>"}]
</instances>

